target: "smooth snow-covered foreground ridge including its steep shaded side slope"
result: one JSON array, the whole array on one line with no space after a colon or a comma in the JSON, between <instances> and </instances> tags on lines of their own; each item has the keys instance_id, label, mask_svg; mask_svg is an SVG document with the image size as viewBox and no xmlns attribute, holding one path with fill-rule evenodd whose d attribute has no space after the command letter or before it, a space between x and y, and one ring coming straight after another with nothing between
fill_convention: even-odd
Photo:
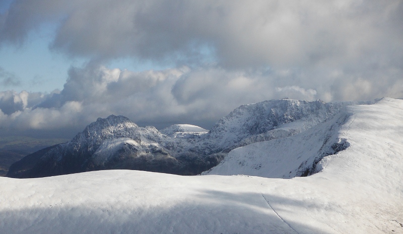
<instances>
[{"instance_id":1,"label":"smooth snow-covered foreground ridge including its steep shaded side slope","mask_svg":"<svg viewBox=\"0 0 403 234\"><path fill-rule=\"evenodd\" d=\"M0 178L0 230L403 233L403 100L347 106L302 133L232 150L206 172L221 175L112 170ZM315 174L282 179L318 152Z\"/></svg>"}]
</instances>

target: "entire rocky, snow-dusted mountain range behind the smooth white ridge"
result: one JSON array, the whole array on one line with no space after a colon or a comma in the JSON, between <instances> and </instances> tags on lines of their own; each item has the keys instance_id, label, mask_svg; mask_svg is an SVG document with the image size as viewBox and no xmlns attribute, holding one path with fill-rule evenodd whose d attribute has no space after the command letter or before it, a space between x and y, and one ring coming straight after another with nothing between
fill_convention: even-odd
<instances>
[{"instance_id":1,"label":"entire rocky, snow-dusted mountain range behind the smooth white ridge","mask_svg":"<svg viewBox=\"0 0 403 234\"><path fill-rule=\"evenodd\" d=\"M7 176L33 178L107 169L197 175L218 165L236 147L303 132L350 104L282 99L243 105L210 131L188 124L158 131L111 115L98 118L69 142L27 155L10 167Z\"/></svg>"}]
</instances>

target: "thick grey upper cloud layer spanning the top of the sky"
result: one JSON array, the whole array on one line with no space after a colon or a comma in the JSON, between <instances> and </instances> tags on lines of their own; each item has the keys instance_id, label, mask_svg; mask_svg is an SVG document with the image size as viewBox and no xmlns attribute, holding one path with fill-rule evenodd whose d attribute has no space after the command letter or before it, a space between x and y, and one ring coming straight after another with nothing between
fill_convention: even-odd
<instances>
[{"instance_id":1,"label":"thick grey upper cloud layer spanning the top of the sky","mask_svg":"<svg viewBox=\"0 0 403 234\"><path fill-rule=\"evenodd\" d=\"M398 0L20 0L1 17L0 40L56 22L51 48L72 56L189 62L211 48L228 67L347 65L401 58L402 14Z\"/></svg>"}]
</instances>

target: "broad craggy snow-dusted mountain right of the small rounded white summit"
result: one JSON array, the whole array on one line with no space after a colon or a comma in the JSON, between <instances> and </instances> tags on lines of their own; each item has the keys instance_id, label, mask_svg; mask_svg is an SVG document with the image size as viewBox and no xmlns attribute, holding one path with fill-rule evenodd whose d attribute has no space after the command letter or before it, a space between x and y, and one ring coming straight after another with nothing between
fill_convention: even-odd
<instances>
[{"instance_id":1,"label":"broad craggy snow-dusted mountain right of the small rounded white summit","mask_svg":"<svg viewBox=\"0 0 403 234\"><path fill-rule=\"evenodd\" d=\"M254 142L283 138L324 122L347 105L375 101L324 103L281 99L242 105L220 119L203 143L216 151L229 151Z\"/></svg>"}]
</instances>

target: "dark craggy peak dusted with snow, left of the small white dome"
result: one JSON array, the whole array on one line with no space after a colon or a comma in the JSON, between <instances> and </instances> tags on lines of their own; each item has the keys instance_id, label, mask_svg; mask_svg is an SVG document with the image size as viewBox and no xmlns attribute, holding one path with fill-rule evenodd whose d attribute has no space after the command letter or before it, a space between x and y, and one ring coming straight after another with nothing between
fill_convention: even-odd
<instances>
[{"instance_id":1,"label":"dark craggy peak dusted with snow, left of the small white dome","mask_svg":"<svg viewBox=\"0 0 403 234\"><path fill-rule=\"evenodd\" d=\"M71 141L33 153L10 167L10 177L43 177L104 169L175 173L184 166L171 156L182 142L155 127L123 116L98 118Z\"/></svg>"}]
</instances>

